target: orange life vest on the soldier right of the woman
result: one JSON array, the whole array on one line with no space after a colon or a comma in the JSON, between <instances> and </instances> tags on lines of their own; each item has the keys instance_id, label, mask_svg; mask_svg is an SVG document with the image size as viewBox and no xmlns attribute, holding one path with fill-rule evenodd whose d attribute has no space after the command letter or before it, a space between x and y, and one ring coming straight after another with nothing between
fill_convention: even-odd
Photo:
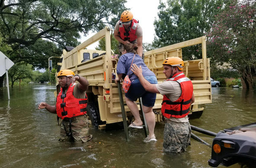
<instances>
[{"instance_id":1,"label":"orange life vest on the soldier right of the woman","mask_svg":"<svg viewBox=\"0 0 256 168\"><path fill-rule=\"evenodd\" d=\"M183 118L189 114L190 101L193 94L192 81L183 72L175 74L167 81L176 81L181 87L181 96L172 102L166 95L163 95L161 112L166 118Z\"/></svg>"}]
</instances>

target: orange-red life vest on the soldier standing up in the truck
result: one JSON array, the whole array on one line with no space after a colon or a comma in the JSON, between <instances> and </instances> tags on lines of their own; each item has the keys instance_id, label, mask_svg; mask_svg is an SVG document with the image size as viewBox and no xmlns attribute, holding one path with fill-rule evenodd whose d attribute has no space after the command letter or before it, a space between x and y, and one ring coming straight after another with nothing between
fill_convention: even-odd
<instances>
[{"instance_id":1,"label":"orange-red life vest on the soldier standing up in the truck","mask_svg":"<svg viewBox=\"0 0 256 168\"><path fill-rule=\"evenodd\" d=\"M136 19L132 19L131 27L128 32L125 31L125 27L122 25L122 22L119 20L119 35L123 40L134 41L137 39L135 35L136 29L138 26L138 21Z\"/></svg>"}]
</instances>

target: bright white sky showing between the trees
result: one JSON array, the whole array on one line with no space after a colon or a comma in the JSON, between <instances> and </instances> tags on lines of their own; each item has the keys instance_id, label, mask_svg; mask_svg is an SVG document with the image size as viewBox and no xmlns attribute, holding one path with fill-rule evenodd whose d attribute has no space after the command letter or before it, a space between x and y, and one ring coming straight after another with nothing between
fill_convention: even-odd
<instances>
[{"instance_id":1,"label":"bright white sky showing between the trees","mask_svg":"<svg viewBox=\"0 0 256 168\"><path fill-rule=\"evenodd\" d=\"M166 0L162 0L166 2ZM139 20L143 30L143 43L151 43L154 40L154 20L158 18L157 9L159 0L127 0L125 7L130 8L135 19ZM82 43L86 39L90 38L95 33L89 33L86 37L81 36L80 42ZM97 43L87 47L87 49L94 49L98 46Z\"/></svg>"}]
</instances>

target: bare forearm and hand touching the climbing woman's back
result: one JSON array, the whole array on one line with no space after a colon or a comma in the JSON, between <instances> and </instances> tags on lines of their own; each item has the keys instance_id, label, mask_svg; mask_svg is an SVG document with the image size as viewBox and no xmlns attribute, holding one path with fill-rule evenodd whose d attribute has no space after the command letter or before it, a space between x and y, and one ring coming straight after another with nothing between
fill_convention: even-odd
<instances>
[{"instance_id":1,"label":"bare forearm and hand touching the climbing woman's back","mask_svg":"<svg viewBox=\"0 0 256 168\"><path fill-rule=\"evenodd\" d=\"M141 82L141 85L144 87L145 90L151 92L151 93L160 93L158 90L157 90L157 87L156 87L156 84L150 84L142 75L142 68L140 66L140 68L136 65L136 64L133 64L132 67L131 67L131 71L136 75L138 76L140 82Z\"/></svg>"}]
</instances>

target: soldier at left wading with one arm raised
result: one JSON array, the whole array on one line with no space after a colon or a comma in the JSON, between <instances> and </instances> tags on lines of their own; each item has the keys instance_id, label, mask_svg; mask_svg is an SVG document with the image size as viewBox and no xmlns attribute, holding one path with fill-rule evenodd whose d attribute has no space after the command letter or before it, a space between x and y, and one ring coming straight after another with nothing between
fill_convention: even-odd
<instances>
[{"instance_id":1,"label":"soldier at left wading with one arm raised","mask_svg":"<svg viewBox=\"0 0 256 168\"><path fill-rule=\"evenodd\" d=\"M82 76L74 75L69 69L61 70L58 78L61 92L57 96L56 106L42 102L38 104L38 109L45 108L51 113L57 113L62 119L60 141L86 142L93 137L89 134L89 121L86 115L86 90L89 82Z\"/></svg>"}]
</instances>

